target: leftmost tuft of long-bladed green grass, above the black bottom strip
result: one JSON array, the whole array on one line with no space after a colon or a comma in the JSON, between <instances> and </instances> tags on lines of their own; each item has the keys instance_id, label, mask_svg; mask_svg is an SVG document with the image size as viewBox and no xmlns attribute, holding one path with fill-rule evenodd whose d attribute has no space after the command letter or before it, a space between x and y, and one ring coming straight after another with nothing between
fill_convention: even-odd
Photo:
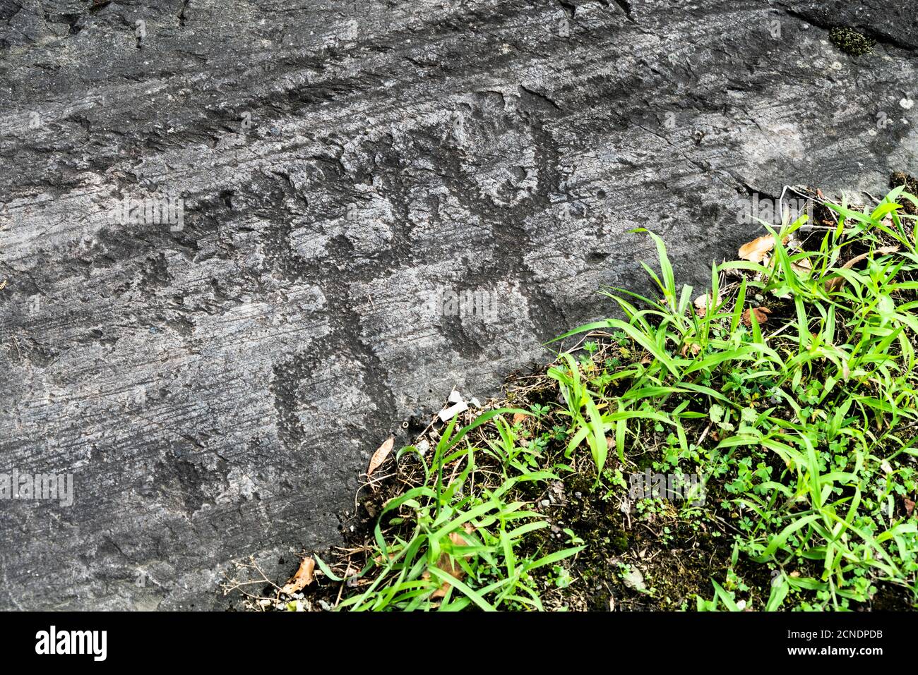
<instances>
[{"instance_id":1,"label":"leftmost tuft of long-bladed green grass, above the black bottom strip","mask_svg":"<svg viewBox=\"0 0 918 675\"><path fill-rule=\"evenodd\" d=\"M453 418L429 462L414 446L401 449L399 454L415 456L415 468L420 466L423 480L385 504L375 526L374 555L354 577L368 583L343 600L342 609L543 609L532 583L533 572L576 555L580 548L521 554L524 538L550 524L513 495L523 482L549 481L556 476L533 468L537 462L521 458L528 450L518 448L504 415L526 413L492 410L458 432L457 418ZM498 432L488 443L489 450L463 440L487 423ZM479 457L496 461L479 466ZM447 468L450 475L444 481ZM494 470L498 475L488 480L487 474ZM394 526L387 536L383 523ZM319 566L331 579L341 579L324 561Z\"/></svg>"}]
</instances>

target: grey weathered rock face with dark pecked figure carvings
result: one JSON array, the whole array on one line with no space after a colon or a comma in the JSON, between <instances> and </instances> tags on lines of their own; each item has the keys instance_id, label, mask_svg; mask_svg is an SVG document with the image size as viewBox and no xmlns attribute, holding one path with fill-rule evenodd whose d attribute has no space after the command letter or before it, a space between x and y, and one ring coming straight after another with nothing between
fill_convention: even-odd
<instances>
[{"instance_id":1,"label":"grey weathered rock face with dark pecked figure carvings","mask_svg":"<svg viewBox=\"0 0 918 675\"><path fill-rule=\"evenodd\" d=\"M0 0L0 607L202 608L784 183L918 172L911 0ZM852 58L827 39L867 32ZM156 202L156 197L161 197Z\"/></svg>"}]
</instances>

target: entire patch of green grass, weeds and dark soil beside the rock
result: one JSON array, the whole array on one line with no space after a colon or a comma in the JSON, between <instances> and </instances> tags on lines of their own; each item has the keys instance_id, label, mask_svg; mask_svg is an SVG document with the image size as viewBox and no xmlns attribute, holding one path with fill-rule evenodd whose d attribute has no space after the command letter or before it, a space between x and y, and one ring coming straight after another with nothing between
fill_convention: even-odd
<instances>
[{"instance_id":1,"label":"entire patch of green grass, weeds and dark soil beside the rock","mask_svg":"<svg viewBox=\"0 0 918 675\"><path fill-rule=\"evenodd\" d=\"M608 289L620 317L401 448L364 501L372 533L319 559L307 593L357 611L915 608L903 205L918 205L904 186L827 202L832 225L769 228L765 260L713 265L701 293L639 230L657 293ZM705 498L635 491L651 471L700 476Z\"/></svg>"}]
</instances>

